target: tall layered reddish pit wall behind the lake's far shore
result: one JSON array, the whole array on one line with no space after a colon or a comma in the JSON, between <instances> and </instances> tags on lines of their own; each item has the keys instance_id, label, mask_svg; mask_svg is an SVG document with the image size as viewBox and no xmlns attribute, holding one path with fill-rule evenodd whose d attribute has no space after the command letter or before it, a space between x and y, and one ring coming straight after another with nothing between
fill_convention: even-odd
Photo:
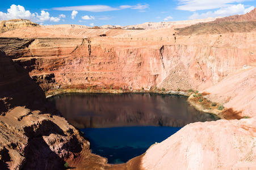
<instances>
[{"instance_id":1,"label":"tall layered reddish pit wall behind the lake's far shore","mask_svg":"<svg viewBox=\"0 0 256 170\"><path fill-rule=\"evenodd\" d=\"M252 33L207 36L179 36L176 42L174 37L1 38L0 49L45 91L89 86L203 90L255 62Z\"/></svg>"}]
</instances>

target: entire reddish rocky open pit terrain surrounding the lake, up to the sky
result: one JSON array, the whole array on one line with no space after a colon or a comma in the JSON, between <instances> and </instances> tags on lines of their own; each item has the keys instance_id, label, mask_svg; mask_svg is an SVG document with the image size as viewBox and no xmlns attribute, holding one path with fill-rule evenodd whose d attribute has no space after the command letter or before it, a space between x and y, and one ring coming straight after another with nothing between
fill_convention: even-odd
<instances>
[{"instance_id":1,"label":"entire reddish rocky open pit terrain surrounding the lake, up to the sky","mask_svg":"<svg viewBox=\"0 0 256 170\"><path fill-rule=\"evenodd\" d=\"M0 27L0 169L256 169L256 9L144 29ZM111 165L46 98L67 92L185 95L221 120Z\"/></svg>"}]
</instances>

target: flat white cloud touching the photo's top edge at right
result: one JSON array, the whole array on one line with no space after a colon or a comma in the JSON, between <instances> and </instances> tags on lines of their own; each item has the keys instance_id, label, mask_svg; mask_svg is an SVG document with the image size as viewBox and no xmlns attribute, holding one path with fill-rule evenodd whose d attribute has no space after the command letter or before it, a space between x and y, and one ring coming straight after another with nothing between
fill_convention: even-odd
<instances>
[{"instance_id":1,"label":"flat white cloud touching the photo's top edge at right","mask_svg":"<svg viewBox=\"0 0 256 170\"><path fill-rule=\"evenodd\" d=\"M210 10L221 7L229 7L230 3L241 3L250 0L178 0L178 10L184 11L197 11L197 10Z\"/></svg>"}]
</instances>

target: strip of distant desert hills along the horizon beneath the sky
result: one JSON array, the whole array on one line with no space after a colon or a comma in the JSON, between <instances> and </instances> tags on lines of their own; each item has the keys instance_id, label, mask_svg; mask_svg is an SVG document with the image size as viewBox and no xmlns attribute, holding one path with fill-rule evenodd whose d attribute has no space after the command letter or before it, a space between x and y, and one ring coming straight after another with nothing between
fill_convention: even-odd
<instances>
[{"instance_id":1,"label":"strip of distant desert hills along the horizon beneath the sky","mask_svg":"<svg viewBox=\"0 0 256 170\"><path fill-rule=\"evenodd\" d=\"M236 23L232 23L236 22ZM247 22L247 23L241 23ZM176 28L180 35L198 35L206 33L226 33L226 32L250 32L255 28L256 22L256 8L244 15L233 15L224 18L207 18L207 19L195 19L195 20L183 20L175 22L147 22L137 25L102 25L95 27L88 27L85 25L74 24L60 24L60 25L48 25L40 26L37 23L33 23L27 19L12 19L0 22L0 33L12 31L21 27L42 27L42 28L78 28L78 29L159 29L159 28ZM223 24L226 23L226 24ZM199 30L200 28L200 30Z\"/></svg>"}]
</instances>

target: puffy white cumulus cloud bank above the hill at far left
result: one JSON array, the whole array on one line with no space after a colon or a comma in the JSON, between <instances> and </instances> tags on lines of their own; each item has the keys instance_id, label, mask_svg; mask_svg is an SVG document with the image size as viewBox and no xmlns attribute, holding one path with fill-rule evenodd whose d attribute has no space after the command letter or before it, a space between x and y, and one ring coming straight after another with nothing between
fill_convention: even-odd
<instances>
[{"instance_id":1,"label":"puffy white cumulus cloud bank above the hill at far left","mask_svg":"<svg viewBox=\"0 0 256 170\"><path fill-rule=\"evenodd\" d=\"M41 11L41 14L31 13L30 11L26 11L23 6L20 5L11 5L7 12L4 13L0 11L0 20L9 20L9 19L29 19L32 22L59 22L60 18L57 17L50 17L49 12L45 12L44 10Z\"/></svg>"}]
</instances>

